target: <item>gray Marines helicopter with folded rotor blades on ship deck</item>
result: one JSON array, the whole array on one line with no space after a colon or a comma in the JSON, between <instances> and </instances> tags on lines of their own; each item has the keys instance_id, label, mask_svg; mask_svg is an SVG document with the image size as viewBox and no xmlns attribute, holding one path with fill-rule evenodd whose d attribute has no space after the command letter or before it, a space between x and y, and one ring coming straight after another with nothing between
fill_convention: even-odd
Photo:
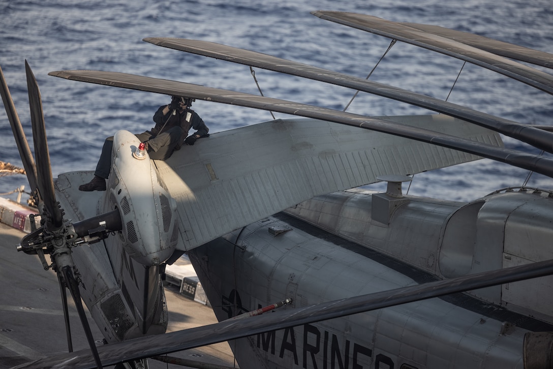
<instances>
[{"instance_id":1,"label":"gray Marines helicopter with folded rotor blades on ship deck","mask_svg":"<svg viewBox=\"0 0 553 369\"><path fill-rule=\"evenodd\" d=\"M369 15L314 14L553 92L553 77L505 59L550 67L550 54ZM20 367L137 366L135 360L227 340L234 340L243 368L534 368L550 362L553 313L542 291L553 273L547 247L553 193L508 188L463 203L401 190L408 175L479 157L551 177L551 159L504 148L498 135L551 153L547 127L254 51L197 40L145 41L441 114L367 117L119 72L51 72L304 117L213 134L165 161L143 160L147 153L137 138L118 131L108 190L85 194L77 188L89 171L52 178L30 66L35 160L2 76L4 106L43 211L40 227L18 250L38 254L45 269L58 272L90 345ZM378 181L388 183L385 193L358 189ZM220 323L164 334L164 267L185 252ZM90 337L81 299L107 345L96 347ZM268 310L263 306L277 310L261 314Z\"/></svg>"}]
</instances>

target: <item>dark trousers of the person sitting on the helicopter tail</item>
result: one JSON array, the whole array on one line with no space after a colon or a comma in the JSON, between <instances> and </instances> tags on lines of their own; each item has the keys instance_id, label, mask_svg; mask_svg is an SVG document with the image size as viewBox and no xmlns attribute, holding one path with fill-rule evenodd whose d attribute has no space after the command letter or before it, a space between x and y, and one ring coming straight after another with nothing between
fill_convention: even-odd
<instances>
[{"instance_id":1,"label":"dark trousers of the person sitting on the helicopter tail","mask_svg":"<svg viewBox=\"0 0 553 369\"><path fill-rule=\"evenodd\" d=\"M168 159L176 146L181 142L182 129L180 127L173 127L167 131L154 136L152 132L147 131L144 133L135 134L140 142L148 141L148 154L150 159L153 160L165 160ZM111 171L111 151L113 149L113 136L106 138L102 147L102 153L100 159L96 165L94 175L101 178L108 178Z\"/></svg>"}]
</instances>

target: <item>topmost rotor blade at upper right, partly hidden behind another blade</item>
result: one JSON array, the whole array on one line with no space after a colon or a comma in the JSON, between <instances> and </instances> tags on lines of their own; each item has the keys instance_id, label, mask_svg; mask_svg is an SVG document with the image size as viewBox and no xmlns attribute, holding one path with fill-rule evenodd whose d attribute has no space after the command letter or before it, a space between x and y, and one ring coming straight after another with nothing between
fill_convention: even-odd
<instances>
[{"instance_id":1,"label":"topmost rotor blade at upper right, partly hidden behind another blade","mask_svg":"<svg viewBox=\"0 0 553 369\"><path fill-rule=\"evenodd\" d=\"M504 56L505 58L524 61L534 65L553 68L553 54L544 51L525 48L524 46L509 44L473 33L457 31L454 29L440 27L439 25L420 23L401 23L408 27L420 29L424 32L446 37L457 42L486 50L489 53Z\"/></svg>"}]
</instances>

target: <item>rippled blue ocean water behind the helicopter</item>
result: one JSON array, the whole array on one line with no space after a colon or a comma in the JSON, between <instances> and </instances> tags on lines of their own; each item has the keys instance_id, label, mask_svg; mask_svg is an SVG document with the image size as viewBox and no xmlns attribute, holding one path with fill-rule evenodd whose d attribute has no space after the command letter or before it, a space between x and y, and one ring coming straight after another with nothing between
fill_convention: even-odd
<instances>
[{"instance_id":1,"label":"rippled blue ocean water behind the helicopter","mask_svg":"<svg viewBox=\"0 0 553 369\"><path fill-rule=\"evenodd\" d=\"M314 17L310 12L316 10L436 24L553 53L550 0L0 0L0 66L31 147L25 60L34 71L43 98L54 176L93 170L105 137L117 129L137 133L149 129L155 109L168 103L168 97L67 81L48 76L48 72L120 71L258 94L247 66L142 41L145 37L178 37L214 41L366 77L390 40ZM371 79L445 99L462 66L463 61L398 42ZM265 96L339 110L354 93L270 71L255 70L255 76ZM552 124L552 96L474 65L462 68L448 101L521 123ZM211 132L271 119L267 111L205 101L196 101L193 108ZM428 113L366 93L360 93L348 111L369 116ZM505 138L505 144L538 153L514 139ZM21 165L3 111L0 160ZM415 175L409 194L468 201L495 189L521 185L527 175L526 170L485 159ZM27 184L24 176L0 177L0 193L21 184ZM528 185L553 187L550 178L536 174Z\"/></svg>"}]
</instances>

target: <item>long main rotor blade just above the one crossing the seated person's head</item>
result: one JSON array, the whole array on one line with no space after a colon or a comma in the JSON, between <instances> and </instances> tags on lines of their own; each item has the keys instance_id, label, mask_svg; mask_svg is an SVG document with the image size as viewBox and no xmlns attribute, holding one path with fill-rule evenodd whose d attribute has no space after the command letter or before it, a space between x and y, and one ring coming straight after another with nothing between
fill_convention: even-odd
<instances>
[{"instance_id":1,"label":"long main rotor blade just above the one crossing the seated person's head","mask_svg":"<svg viewBox=\"0 0 553 369\"><path fill-rule=\"evenodd\" d=\"M379 84L378 82L368 81L359 77L208 41L171 38L145 38L144 41L166 48L186 51L187 53L255 66L392 98L478 124L479 126L503 133L506 136L519 139L546 152L553 153L553 133L544 133L535 127L474 111L464 106L399 89L398 87Z\"/></svg>"}]
</instances>

